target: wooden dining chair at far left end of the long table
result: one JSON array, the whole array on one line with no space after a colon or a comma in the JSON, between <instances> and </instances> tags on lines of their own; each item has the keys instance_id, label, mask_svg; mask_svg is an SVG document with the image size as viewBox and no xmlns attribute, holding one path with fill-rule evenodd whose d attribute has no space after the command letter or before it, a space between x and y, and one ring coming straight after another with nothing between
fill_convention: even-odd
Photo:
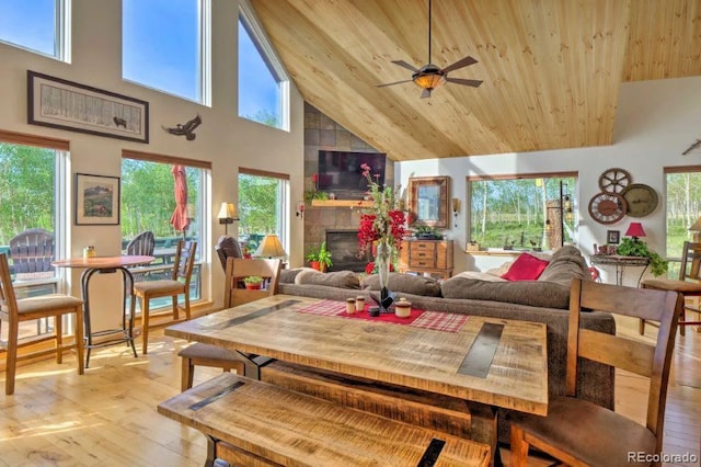
<instances>
[{"instance_id":1,"label":"wooden dining chair at far left end of the long table","mask_svg":"<svg viewBox=\"0 0 701 467\"><path fill-rule=\"evenodd\" d=\"M281 261L280 260L249 260L230 257L227 259L223 307L231 308L249 301L277 294ZM266 288L262 291L246 291L241 287L241 280L250 275L265 278ZM221 349L217 345L194 343L182 351L181 390L193 387L195 366L222 368L225 372L235 369L237 374L245 375L244 358L238 352Z\"/></svg>"}]
</instances>

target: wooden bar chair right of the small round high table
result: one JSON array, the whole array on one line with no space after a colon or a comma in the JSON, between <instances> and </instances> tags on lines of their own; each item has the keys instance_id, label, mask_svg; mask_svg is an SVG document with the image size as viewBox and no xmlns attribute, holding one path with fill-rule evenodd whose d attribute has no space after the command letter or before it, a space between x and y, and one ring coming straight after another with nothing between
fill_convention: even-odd
<instances>
[{"instance_id":1,"label":"wooden bar chair right of the small round high table","mask_svg":"<svg viewBox=\"0 0 701 467\"><path fill-rule=\"evenodd\" d=\"M143 354L148 352L149 342L149 305L152 298L172 297L173 319L180 318L180 307L177 297L185 297L185 318L189 319L189 278L195 264L196 241L180 240L175 249L173 262L173 274L171 278L158 281L141 281L134 284L134 298L131 300L131 317L136 315L136 299L141 304L141 339L143 342Z\"/></svg>"}]
</instances>

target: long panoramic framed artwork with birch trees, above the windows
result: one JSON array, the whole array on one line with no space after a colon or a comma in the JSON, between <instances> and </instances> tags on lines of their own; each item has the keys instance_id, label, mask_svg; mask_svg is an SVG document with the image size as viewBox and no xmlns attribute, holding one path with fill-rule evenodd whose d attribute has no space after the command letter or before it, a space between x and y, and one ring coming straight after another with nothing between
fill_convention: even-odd
<instances>
[{"instance_id":1,"label":"long panoramic framed artwork with birch trees, above the windows","mask_svg":"<svg viewBox=\"0 0 701 467\"><path fill-rule=\"evenodd\" d=\"M27 123L149 141L149 103L27 70Z\"/></svg>"}]
</instances>

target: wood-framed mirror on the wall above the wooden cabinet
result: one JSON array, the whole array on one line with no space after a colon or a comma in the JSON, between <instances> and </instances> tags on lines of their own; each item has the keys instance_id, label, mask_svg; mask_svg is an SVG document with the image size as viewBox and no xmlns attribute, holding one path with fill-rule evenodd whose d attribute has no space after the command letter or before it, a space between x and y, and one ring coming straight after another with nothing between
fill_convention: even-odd
<instances>
[{"instance_id":1,"label":"wood-framed mirror on the wall above the wooden cabinet","mask_svg":"<svg viewBox=\"0 0 701 467\"><path fill-rule=\"evenodd\" d=\"M409 179L409 219L411 226L448 227L449 176Z\"/></svg>"}]
</instances>

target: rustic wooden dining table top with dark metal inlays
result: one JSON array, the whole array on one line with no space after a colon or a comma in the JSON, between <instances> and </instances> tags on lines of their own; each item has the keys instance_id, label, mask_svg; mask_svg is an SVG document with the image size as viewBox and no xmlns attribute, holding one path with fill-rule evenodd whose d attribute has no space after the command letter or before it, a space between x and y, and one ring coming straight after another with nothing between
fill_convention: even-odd
<instances>
[{"instance_id":1,"label":"rustic wooden dining table top with dark metal inlays","mask_svg":"<svg viewBox=\"0 0 701 467\"><path fill-rule=\"evenodd\" d=\"M306 311L320 301L275 295L173 324L165 334L494 409L548 412L543 323L470 316L447 332ZM246 376L255 371L246 363Z\"/></svg>"}]
</instances>

